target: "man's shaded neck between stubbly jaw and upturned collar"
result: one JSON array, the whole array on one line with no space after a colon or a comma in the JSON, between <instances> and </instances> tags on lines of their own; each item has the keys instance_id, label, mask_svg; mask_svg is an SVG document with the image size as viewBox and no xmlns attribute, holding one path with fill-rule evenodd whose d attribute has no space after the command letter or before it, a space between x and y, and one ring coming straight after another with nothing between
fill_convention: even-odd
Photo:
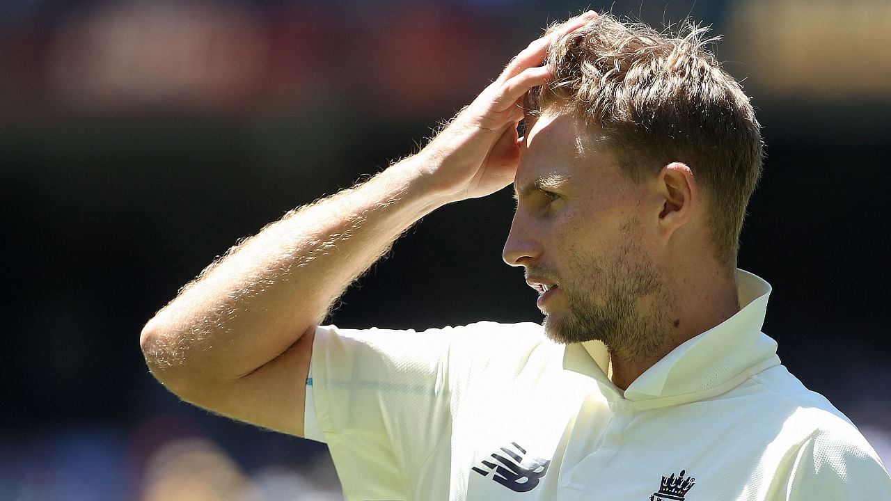
<instances>
[{"instance_id":1,"label":"man's shaded neck between stubbly jaw and upturned collar","mask_svg":"<svg viewBox=\"0 0 891 501\"><path fill-rule=\"evenodd\" d=\"M671 284L673 308L655 334L652 349L609 348L612 382L627 390L634 380L672 350L691 338L721 324L740 310L735 272L683 276Z\"/></svg>"}]
</instances>

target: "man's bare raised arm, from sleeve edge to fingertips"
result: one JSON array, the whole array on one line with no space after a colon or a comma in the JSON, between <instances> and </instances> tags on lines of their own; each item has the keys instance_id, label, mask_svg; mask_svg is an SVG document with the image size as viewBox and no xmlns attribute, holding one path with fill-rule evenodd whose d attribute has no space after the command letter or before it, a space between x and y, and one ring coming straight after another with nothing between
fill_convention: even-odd
<instances>
[{"instance_id":1,"label":"man's bare raised arm, from sleeve edge to fingertips","mask_svg":"<svg viewBox=\"0 0 891 501\"><path fill-rule=\"evenodd\" d=\"M302 435L315 327L415 221L511 183L518 102L549 78L540 66L549 42L540 38L519 53L420 153L291 211L205 269L143 328L151 373L200 407Z\"/></svg>"}]
</instances>

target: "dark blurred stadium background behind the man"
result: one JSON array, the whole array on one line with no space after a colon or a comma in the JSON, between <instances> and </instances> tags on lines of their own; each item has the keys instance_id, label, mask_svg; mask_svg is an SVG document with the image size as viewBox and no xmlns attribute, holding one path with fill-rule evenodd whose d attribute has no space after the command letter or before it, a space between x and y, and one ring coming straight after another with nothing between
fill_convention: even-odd
<instances>
[{"instance_id":1,"label":"dark blurred stadium background behind the man","mask_svg":"<svg viewBox=\"0 0 891 501\"><path fill-rule=\"evenodd\" d=\"M323 445L168 394L143 323L589 7L725 36L767 143L740 255L774 287L764 331L891 464L891 0L0 0L0 500L342 499ZM429 216L333 321L540 320L500 259L511 212Z\"/></svg>"}]
</instances>

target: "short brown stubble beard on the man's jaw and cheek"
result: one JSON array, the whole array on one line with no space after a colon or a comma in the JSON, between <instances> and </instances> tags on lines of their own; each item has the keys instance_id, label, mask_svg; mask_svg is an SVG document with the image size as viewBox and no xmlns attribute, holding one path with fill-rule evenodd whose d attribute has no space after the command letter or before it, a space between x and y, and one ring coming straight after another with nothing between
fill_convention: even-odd
<instances>
[{"instance_id":1,"label":"short brown stubble beard on the man's jaw and cheek","mask_svg":"<svg viewBox=\"0 0 891 501\"><path fill-rule=\"evenodd\" d=\"M604 262L575 256L576 277L560 283L568 315L549 323L545 333L562 344L602 341L613 356L645 359L659 352L672 327L674 300L658 268L625 234L618 255ZM642 303L647 302L646 311Z\"/></svg>"}]
</instances>

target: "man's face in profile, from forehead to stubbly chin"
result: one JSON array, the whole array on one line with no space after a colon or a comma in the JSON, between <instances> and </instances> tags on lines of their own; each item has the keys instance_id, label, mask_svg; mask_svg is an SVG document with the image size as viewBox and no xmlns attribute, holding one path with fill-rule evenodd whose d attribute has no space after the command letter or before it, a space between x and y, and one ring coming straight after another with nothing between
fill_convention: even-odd
<instances>
[{"instance_id":1,"label":"man's face in profile, from forehead to stubbly chin","mask_svg":"<svg viewBox=\"0 0 891 501\"><path fill-rule=\"evenodd\" d=\"M589 134L558 113L528 131L503 258L526 268L552 340L600 340L614 353L642 356L658 349L672 307L650 259L647 183L635 184L605 148L579 139Z\"/></svg>"}]
</instances>

